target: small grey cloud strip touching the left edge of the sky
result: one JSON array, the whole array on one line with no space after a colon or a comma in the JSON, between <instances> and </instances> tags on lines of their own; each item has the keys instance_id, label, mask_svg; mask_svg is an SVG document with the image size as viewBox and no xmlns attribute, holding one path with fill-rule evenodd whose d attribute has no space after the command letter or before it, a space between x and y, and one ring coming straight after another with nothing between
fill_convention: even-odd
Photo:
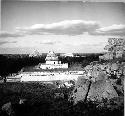
<instances>
[{"instance_id":1,"label":"small grey cloud strip touching the left edge of the sky","mask_svg":"<svg viewBox=\"0 0 125 116\"><path fill-rule=\"evenodd\" d=\"M22 36L24 36L24 34L22 34L19 31L18 32L14 32L14 33L5 32L5 31L0 32L0 38L22 37Z\"/></svg>"}]
</instances>

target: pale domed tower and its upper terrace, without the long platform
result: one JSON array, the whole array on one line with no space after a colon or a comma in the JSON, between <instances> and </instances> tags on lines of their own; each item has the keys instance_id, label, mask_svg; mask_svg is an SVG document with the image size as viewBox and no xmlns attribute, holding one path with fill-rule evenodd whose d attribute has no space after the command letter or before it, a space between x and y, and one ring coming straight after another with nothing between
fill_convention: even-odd
<instances>
[{"instance_id":1,"label":"pale domed tower and its upper terrace, without the long platform","mask_svg":"<svg viewBox=\"0 0 125 116\"><path fill-rule=\"evenodd\" d=\"M59 61L58 56L52 52L49 51L49 53L46 56L46 63L40 63L39 68L41 69L58 69L58 68L63 68L66 69L68 68L68 63L61 63Z\"/></svg>"}]
</instances>

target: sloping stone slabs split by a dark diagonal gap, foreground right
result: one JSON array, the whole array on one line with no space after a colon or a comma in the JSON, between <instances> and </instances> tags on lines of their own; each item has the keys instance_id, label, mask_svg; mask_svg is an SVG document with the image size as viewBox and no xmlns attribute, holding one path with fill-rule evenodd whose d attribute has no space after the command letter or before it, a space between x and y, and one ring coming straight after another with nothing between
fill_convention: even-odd
<instances>
[{"instance_id":1,"label":"sloping stone slabs split by a dark diagonal gap, foreground right","mask_svg":"<svg viewBox=\"0 0 125 116\"><path fill-rule=\"evenodd\" d=\"M80 82L80 83L79 83ZM97 101L118 97L118 94L109 80L98 80L91 82L84 78L79 78L72 92L70 100L74 104L79 101Z\"/></svg>"}]
</instances>

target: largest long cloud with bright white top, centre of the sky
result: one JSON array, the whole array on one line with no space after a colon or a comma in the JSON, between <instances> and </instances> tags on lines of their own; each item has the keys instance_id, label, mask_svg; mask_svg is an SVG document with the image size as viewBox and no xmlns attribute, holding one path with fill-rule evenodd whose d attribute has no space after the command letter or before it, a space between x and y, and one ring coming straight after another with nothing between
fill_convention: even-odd
<instances>
[{"instance_id":1,"label":"largest long cloud with bright white top, centre of the sky","mask_svg":"<svg viewBox=\"0 0 125 116\"><path fill-rule=\"evenodd\" d=\"M65 20L51 24L35 24L31 27L17 28L26 34L80 35L99 28L95 21Z\"/></svg>"}]
</instances>

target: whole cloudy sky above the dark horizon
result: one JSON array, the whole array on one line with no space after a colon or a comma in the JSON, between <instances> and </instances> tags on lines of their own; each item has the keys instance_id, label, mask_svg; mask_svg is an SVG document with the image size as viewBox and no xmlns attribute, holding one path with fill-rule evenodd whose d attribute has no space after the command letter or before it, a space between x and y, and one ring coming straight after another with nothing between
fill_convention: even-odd
<instances>
[{"instance_id":1,"label":"whole cloudy sky above the dark horizon","mask_svg":"<svg viewBox=\"0 0 125 116\"><path fill-rule=\"evenodd\" d=\"M2 1L0 53L100 53L125 38L125 3Z\"/></svg>"}]
</instances>

